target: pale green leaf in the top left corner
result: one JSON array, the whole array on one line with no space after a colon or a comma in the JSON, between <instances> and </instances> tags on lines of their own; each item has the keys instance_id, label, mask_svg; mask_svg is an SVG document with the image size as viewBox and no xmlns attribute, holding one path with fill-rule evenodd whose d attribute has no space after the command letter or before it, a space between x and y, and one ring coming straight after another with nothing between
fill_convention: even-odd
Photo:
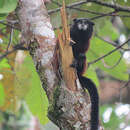
<instances>
[{"instance_id":1,"label":"pale green leaf in the top left corner","mask_svg":"<svg viewBox=\"0 0 130 130\"><path fill-rule=\"evenodd\" d=\"M17 0L0 0L0 14L14 11L16 6Z\"/></svg>"}]
</instances>

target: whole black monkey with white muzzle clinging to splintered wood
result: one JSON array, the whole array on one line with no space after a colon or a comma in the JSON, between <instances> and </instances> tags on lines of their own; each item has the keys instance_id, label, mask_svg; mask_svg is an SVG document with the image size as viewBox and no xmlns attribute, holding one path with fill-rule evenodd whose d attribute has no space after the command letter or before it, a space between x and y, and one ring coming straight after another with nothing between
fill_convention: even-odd
<instances>
[{"instance_id":1,"label":"whole black monkey with white muzzle clinging to splintered wood","mask_svg":"<svg viewBox=\"0 0 130 130\"><path fill-rule=\"evenodd\" d=\"M74 62L72 67L77 70L77 75L81 86L86 88L90 94L91 99L91 130L98 130L99 123L99 97L95 84L87 77L82 76L86 69L85 53L89 48L90 38L93 33L94 23L86 18L74 19L70 28L70 37L72 45Z\"/></svg>"}]
</instances>

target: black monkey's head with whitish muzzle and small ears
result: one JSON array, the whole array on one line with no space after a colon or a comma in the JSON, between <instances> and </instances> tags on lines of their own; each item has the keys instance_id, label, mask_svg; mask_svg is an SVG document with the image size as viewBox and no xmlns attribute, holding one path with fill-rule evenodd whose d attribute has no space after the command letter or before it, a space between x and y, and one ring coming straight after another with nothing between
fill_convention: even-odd
<instances>
[{"instance_id":1,"label":"black monkey's head with whitish muzzle and small ears","mask_svg":"<svg viewBox=\"0 0 130 130\"><path fill-rule=\"evenodd\" d=\"M93 28L94 23L86 18L74 19L74 25L81 31L89 31Z\"/></svg>"}]
</instances>

